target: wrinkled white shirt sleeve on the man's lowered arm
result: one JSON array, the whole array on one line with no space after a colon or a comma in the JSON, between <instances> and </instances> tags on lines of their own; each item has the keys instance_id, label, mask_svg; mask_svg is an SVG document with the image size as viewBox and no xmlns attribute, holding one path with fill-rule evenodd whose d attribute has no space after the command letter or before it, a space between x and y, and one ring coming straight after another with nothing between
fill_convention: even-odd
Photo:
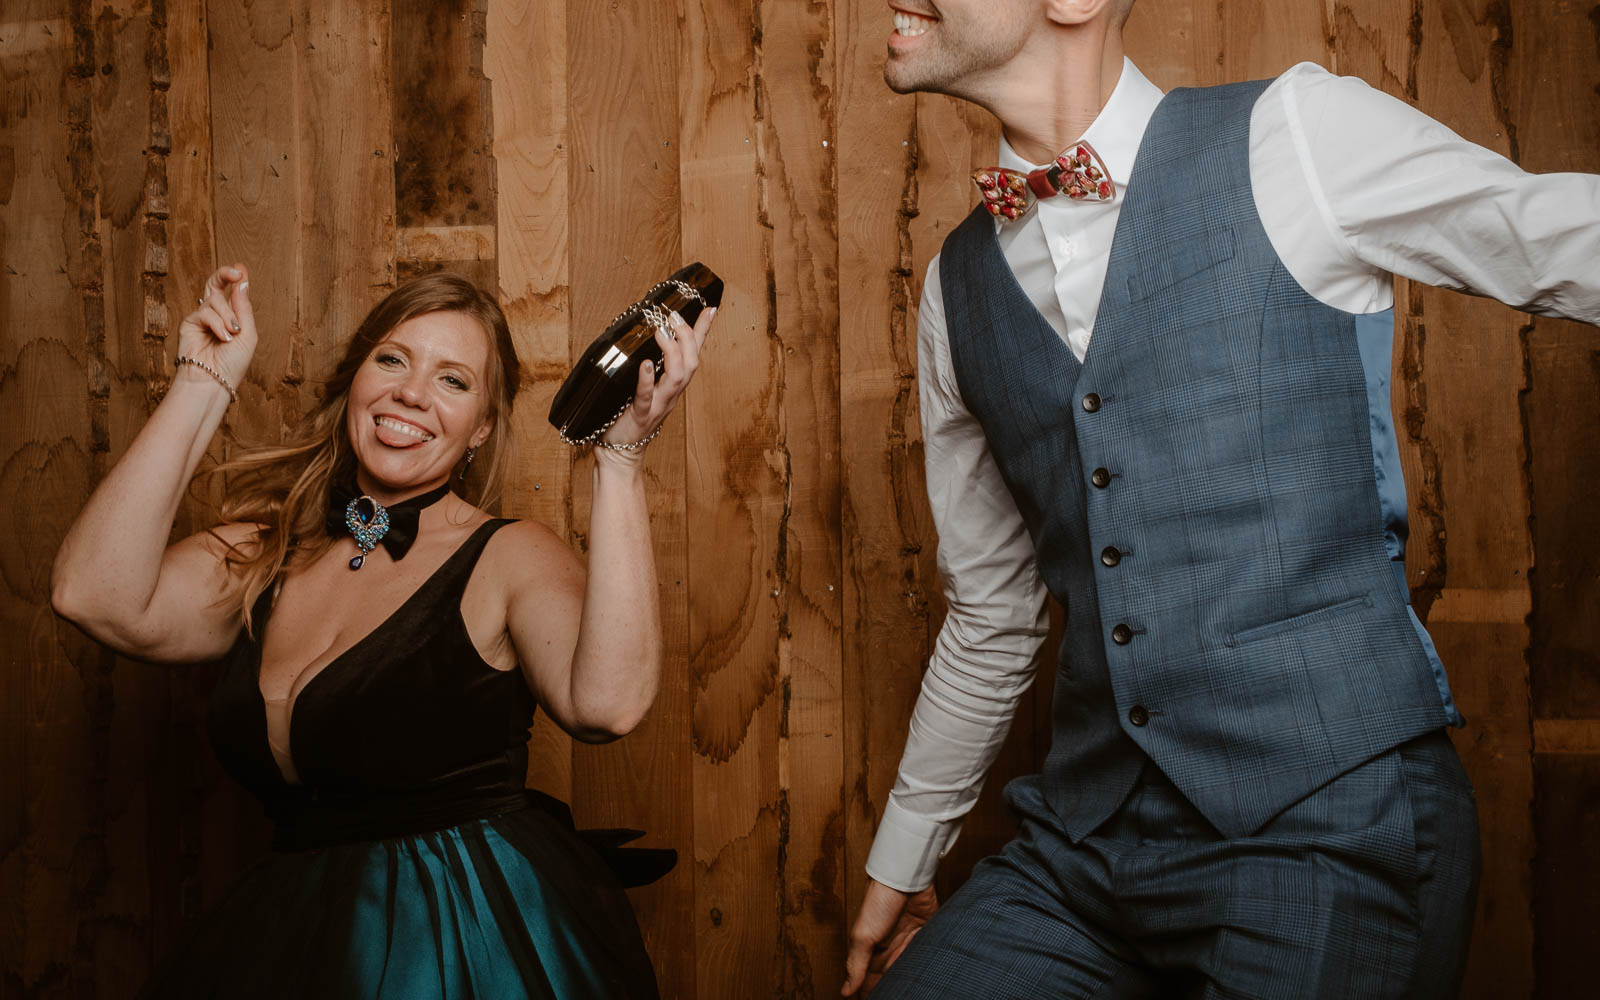
<instances>
[{"instance_id":1,"label":"wrinkled white shirt sleeve on the man's lowered arm","mask_svg":"<svg viewBox=\"0 0 1600 1000\"><path fill-rule=\"evenodd\" d=\"M1050 626L1032 539L950 370L938 258L917 314L917 368L949 610L867 858L869 875L902 891L931 885L955 843Z\"/></svg>"}]
</instances>

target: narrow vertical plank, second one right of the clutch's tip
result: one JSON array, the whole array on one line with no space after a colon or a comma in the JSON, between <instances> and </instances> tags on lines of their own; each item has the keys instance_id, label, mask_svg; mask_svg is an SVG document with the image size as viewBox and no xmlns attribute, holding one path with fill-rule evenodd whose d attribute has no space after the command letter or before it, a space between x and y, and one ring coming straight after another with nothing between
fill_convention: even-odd
<instances>
[{"instance_id":1,"label":"narrow vertical plank, second one right of the clutch's tip","mask_svg":"<svg viewBox=\"0 0 1600 1000\"><path fill-rule=\"evenodd\" d=\"M779 459L787 480L776 552L781 954L773 994L830 997L845 965L848 920L840 701L837 14L829 5L765 2L758 16L758 178L762 216L771 226L765 333L774 352L781 350L779 442L776 454L768 451L768 462ZM706 413L717 411L707 406ZM754 448L744 450L754 458Z\"/></svg>"}]
</instances>

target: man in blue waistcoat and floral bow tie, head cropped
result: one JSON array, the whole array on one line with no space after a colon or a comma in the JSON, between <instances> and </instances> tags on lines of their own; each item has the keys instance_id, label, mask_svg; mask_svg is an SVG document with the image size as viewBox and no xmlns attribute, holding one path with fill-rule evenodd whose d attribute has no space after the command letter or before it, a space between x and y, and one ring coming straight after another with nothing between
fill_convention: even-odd
<instances>
[{"instance_id":1,"label":"man in blue waistcoat and floral bow tie, head cropped","mask_svg":"<svg viewBox=\"0 0 1600 1000\"><path fill-rule=\"evenodd\" d=\"M891 3L888 85L1003 139L923 285L949 613L843 992L1451 997L1477 813L1405 586L1392 275L1600 322L1600 178L1310 64L1163 96L1131 6ZM939 909L1046 590L1050 755Z\"/></svg>"}]
</instances>

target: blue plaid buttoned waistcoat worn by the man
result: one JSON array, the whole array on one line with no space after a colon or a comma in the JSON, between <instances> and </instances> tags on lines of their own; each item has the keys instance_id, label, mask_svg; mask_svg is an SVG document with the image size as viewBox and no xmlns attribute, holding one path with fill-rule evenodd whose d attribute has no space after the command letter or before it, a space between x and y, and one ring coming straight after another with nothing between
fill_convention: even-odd
<instances>
[{"instance_id":1,"label":"blue plaid buttoned waistcoat worn by the man","mask_svg":"<svg viewBox=\"0 0 1600 1000\"><path fill-rule=\"evenodd\" d=\"M1240 837L1458 718L1397 562L1398 459L1374 446L1389 341L1363 368L1373 317L1307 294L1256 216L1264 88L1157 109L1082 365L987 211L944 243L957 384L1067 614L1050 755L1006 795L1074 840L1146 760Z\"/></svg>"}]
</instances>

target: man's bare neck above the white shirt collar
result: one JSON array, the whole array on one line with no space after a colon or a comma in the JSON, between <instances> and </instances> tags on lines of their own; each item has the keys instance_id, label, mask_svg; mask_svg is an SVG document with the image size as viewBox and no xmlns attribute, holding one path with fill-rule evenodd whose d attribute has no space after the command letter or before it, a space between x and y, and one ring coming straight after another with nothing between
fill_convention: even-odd
<instances>
[{"instance_id":1,"label":"man's bare neck above the white shirt collar","mask_svg":"<svg viewBox=\"0 0 1600 1000\"><path fill-rule=\"evenodd\" d=\"M1010 86L989 109L1006 142L1029 163L1048 163L1083 133L1122 78L1122 37L1085 38L1078 51L1059 51Z\"/></svg>"}]
</instances>

